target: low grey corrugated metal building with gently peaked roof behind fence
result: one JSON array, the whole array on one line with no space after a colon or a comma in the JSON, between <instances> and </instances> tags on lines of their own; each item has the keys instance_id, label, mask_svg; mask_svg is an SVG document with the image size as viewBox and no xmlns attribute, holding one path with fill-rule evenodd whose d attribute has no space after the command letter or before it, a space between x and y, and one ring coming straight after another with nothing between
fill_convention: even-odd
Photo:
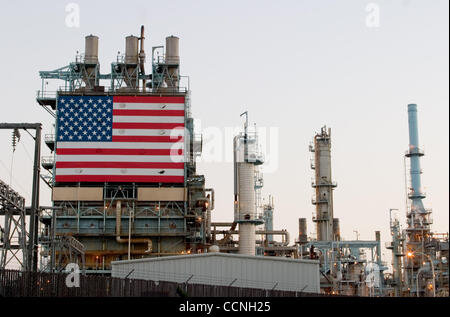
<instances>
[{"instance_id":1,"label":"low grey corrugated metal building with gently peaked roof behind fence","mask_svg":"<svg viewBox=\"0 0 450 317\"><path fill-rule=\"evenodd\" d=\"M147 280L184 282L194 274L191 283L228 285L237 278L234 286L270 289L278 282L277 290L300 291L306 285L304 291L318 293L320 290L317 263L208 254L115 263L112 274L124 277L133 267L135 273L131 278Z\"/></svg>"}]
</instances>

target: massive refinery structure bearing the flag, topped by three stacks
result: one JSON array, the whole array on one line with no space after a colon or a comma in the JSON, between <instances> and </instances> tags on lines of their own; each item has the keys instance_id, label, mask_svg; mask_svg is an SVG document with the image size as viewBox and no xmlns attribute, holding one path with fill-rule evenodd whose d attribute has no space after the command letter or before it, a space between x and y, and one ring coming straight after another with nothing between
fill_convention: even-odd
<instances>
[{"instance_id":1,"label":"massive refinery structure bearing the flag, topped by three stacks","mask_svg":"<svg viewBox=\"0 0 450 317\"><path fill-rule=\"evenodd\" d=\"M40 219L44 270L70 261L58 241L82 251L86 272L98 274L109 274L111 261L209 246L214 195L196 173L201 137L193 133L179 39L152 47L150 72L144 39L144 27L139 37L127 36L125 54L107 74L94 35L85 38L84 56L40 72L37 101L55 119L55 134L45 137L54 154L43 161L53 201L53 212ZM49 79L64 86L47 91Z\"/></svg>"}]
</instances>

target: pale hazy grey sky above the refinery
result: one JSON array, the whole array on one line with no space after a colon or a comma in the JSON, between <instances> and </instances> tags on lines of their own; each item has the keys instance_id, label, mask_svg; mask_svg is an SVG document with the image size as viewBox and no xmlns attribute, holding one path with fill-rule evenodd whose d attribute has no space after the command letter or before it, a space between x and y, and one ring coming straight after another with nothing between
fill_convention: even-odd
<instances>
[{"instance_id":1,"label":"pale hazy grey sky above the refinery","mask_svg":"<svg viewBox=\"0 0 450 317\"><path fill-rule=\"evenodd\" d=\"M124 37L146 26L150 47L180 37L182 73L189 75L192 110L203 128L240 126L239 114L279 130L279 168L265 174L275 197L275 227L298 234L298 218L314 207L309 142L332 128L335 216L349 240L389 237L389 208L405 224L403 154L408 147L407 104L418 104L424 201L434 231L449 223L449 16L447 0L74 1L80 27L66 25L69 1L4 2L0 10L4 122L52 120L35 101L39 70L67 65L84 36L100 37L102 73L109 73ZM379 27L368 27L369 3ZM126 8L125 8L126 6ZM148 59L149 60L149 59ZM147 62L147 69L150 64ZM33 143L22 133L13 161L13 186L29 201ZM10 131L0 131L0 178L10 180ZM231 143L231 139L226 142ZM44 146L43 155L50 152ZM202 163L216 190L213 221L233 218L231 163ZM41 204L50 204L42 184ZM388 250L383 249L386 255Z\"/></svg>"}]
</instances>

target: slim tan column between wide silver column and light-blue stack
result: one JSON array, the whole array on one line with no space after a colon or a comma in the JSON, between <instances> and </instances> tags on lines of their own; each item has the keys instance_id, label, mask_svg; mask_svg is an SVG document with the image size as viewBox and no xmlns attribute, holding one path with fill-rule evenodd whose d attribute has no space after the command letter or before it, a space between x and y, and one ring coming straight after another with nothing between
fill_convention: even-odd
<instances>
[{"instance_id":1,"label":"slim tan column between wide silver column and light-blue stack","mask_svg":"<svg viewBox=\"0 0 450 317\"><path fill-rule=\"evenodd\" d=\"M333 232L333 189L336 184L331 179L331 129L322 127L321 132L314 137L314 153L316 216L313 219L317 226L317 240L334 240ZM336 221L336 220L334 220Z\"/></svg>"}]
</instances>

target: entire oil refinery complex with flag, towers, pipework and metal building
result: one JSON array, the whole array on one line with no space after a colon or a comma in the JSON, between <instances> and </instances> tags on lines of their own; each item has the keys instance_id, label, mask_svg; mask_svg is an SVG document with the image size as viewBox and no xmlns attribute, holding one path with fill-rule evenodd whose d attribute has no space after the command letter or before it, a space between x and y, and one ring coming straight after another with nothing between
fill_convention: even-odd
<instances>
[{"instance_id":1,"label":"entire oil refinery complex with flag, towers, pipework and metal building","mask_svg":"<svg viewBox=\"0 0 450 317\"><path fill-rule=\"evenodd\" d=\"M292 217L298 233L274 228L282 211L276 197L262 198L265 156L247 111L235 114L242 128L229 140L234 210L226 213L233 221L213 221L217 191L197 168L204 140L194 126L189 77L181 71L181 40L170 35L164 45L149 47L142 26L138 36L124 39L125 53L108 73L100 72L100 41L87 35L83 54L39 72L36 102L53 127L0 123L12 131L13 147L24 130L35 132L32 201L0 180L0 270L15 262L21 271L59 273L76 263L83 274L122 279L316 295L449 296L448 232L433 232L421 182L418 108L426 109L407 105L407 221L391 216L386 245L382 228L374 228L370 240L341 235L348 220L334 208L340 187L327 126L311 131L309 149L302 150L311 155L311 174L303 175L312 176L311 209ZM59 88L47 90L49 81ZM50 155L41 154L41 139ZM40 180L51 189L51 206L39 202ZM392 263L382 258L385 250Z\"/></svg>"}]
</instances>

